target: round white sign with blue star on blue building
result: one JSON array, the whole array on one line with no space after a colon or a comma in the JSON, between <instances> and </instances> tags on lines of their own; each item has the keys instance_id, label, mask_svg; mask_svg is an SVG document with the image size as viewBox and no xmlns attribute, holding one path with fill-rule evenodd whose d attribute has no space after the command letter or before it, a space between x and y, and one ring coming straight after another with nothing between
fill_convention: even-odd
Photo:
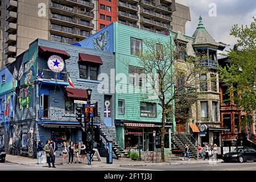
<instances>
[{"instance_id":1,"label":"round white sign with blue star on blue building","mask_svg":"<svg viewBox=\"0 0 256 182\"><path fill-rule=\"evenodd\" d=\"M64 61L60 56L52 55L49 57L47 61L48 68L51 69L51 71L59 73L63 71L64 69Z\"/></svg>"}]
</instances>

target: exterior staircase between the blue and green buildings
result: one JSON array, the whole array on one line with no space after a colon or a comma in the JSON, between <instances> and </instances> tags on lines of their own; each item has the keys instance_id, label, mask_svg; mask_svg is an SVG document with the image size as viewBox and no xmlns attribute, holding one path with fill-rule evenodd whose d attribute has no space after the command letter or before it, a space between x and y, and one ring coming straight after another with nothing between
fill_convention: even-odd
<instances>
[{"instance_id":1,"label":"exterior staircase between the blue and green buildings","mask_svg":"<svg viewBox=\"0 0 256 182\"><path fill-rule=\"evenodd\" d=\"M102 143L105 146L105 149L108 150L107 143L109 141L112 141L113 143L113 152L116 156L116 158L121 158L121 157L128 157L128 154L123 150L122 147L118 146L118 144L115 142L115 127L110 127L106 126L104 121L100 117L95 117L96 122L100 123L100 126L98 127L100 137L102 140Z\"/></svg>"}]
</instances>

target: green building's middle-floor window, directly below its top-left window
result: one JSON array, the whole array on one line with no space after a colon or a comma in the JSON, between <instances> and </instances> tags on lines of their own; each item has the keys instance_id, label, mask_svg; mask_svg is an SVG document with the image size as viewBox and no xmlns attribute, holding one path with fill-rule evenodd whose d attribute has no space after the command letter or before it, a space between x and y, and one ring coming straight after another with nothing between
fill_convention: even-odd
<instances>
[{"instance_id":1,"label":"green building's middle-floor window, directly below its top-left window","mask_svg":"<svg viewBox=\"0 0 256 182\"><path fill-rule=\"evenodd\" d=\"M129 65L129 84L134 86L145 86L144 69Z\"/></svg>"}]
</instances>

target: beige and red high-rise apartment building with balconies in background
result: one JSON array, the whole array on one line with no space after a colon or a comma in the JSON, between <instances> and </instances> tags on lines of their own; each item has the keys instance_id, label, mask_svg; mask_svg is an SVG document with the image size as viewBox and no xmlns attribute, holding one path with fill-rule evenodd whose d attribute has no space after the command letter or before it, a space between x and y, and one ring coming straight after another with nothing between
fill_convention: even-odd
<instances>
[{"instance_id":1,"label":"beige and red high-rise apartment building with balconies in background","mask_svg":"<svg viewBox=\"0 0 256 182\"><path fill-rule=\"evenodd\" d=\"M189 8L175 0L2 0L0 68L37 38L72 44L112 22L185 34Z\"/></svg>"}]
</instances>

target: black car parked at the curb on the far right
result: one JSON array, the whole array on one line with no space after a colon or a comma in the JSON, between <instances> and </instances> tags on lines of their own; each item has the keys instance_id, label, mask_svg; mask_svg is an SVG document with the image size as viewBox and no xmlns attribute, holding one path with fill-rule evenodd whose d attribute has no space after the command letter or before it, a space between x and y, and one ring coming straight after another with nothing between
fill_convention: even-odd
<instances>
[{"instance_id":1,"label":"black car parked at the curb on the far right","mask_svg":"<svg viewBox=\"0 0 256 182\"><path fill-rule=\"evenodd\" d=\"M256 150L250 147L235 148L233 151L223 155L222 160L238 161L240 163L246 162L246 160L254 160L256 162Z\"/></svg>"}]
</instances>

